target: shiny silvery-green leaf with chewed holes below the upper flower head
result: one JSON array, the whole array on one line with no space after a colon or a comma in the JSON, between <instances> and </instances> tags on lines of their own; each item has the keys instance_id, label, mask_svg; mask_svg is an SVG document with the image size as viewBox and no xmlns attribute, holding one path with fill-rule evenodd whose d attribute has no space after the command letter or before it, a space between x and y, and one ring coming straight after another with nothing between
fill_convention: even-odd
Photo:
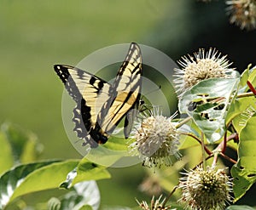
<instances>
[{"instance_id":1,"label":"shiny silvery-green leaf with chewed holes below the upper flower head","mask_svg":"<svg viewBox=\"0 0 256 210\"><path fill-rule=\"evenodd\" d=\"M204 80L179 100L179 111L193 118L209 143L218 141L224 134L224 118L237 82L238 79L227 78Z\"/></svg>"}]
</instances>

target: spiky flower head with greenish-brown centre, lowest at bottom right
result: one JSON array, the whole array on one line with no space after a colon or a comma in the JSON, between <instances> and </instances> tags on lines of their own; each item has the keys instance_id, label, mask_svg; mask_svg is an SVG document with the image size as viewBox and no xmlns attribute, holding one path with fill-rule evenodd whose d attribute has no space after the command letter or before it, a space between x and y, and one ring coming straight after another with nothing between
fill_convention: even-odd
<instances>
[{"instance_id":1,"label":"spiky flower head with greenish-brown centre, lowest at bottom right","mask_svg":"<svg viewBox=\"0 0 256 210\"><path fill-rule=\"evenodd\" d=\"M224 173L224 169L196 167L184 173L186 177L180 179L179 188L183 190L182 198L186 208L193 210L222 210L230 196L232 183Z\"/></svg>"}]
</instances>

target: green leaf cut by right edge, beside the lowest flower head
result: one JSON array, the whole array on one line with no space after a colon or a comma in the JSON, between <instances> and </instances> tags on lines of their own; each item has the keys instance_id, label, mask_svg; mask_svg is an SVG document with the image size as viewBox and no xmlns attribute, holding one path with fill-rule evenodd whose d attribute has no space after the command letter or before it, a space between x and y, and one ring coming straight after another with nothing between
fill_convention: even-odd
<instances>
[{"instance_id":1,"label":"green leaf cut by right edge, beside the lowest flower head","mask_svg":"<svg viewBox=\"0 0 256 210\"><path fill-rule=\"evenodd\" d=\"M244 196L247 190L256 182L256 136L254 133L256 116L247 120L246 126L239 134L239 160L231 169L234 178L235 201Z\"/></svg>"}]
</instances>

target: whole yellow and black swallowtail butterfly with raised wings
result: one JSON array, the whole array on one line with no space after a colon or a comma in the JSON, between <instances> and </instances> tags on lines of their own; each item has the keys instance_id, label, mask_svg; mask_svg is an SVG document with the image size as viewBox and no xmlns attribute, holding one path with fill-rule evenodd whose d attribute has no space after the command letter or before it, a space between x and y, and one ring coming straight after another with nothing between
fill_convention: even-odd
<instances>
[{"instance_id":1,"label":"whole yellow and black swallowtail butterfly with raised wings","mask_svg":"<svg viewBox=\"0 0 256 210\"><path fill-rule=\"evenodd\" d=\"M131 111L137 108L141 92L142 55L131 43L113 85L87 71L70 65L55 65L55 72L76 102L74 131L84 145L105 144L114 128L125 117L125 138L131 132Z\"/></svg>"}]
</instances>

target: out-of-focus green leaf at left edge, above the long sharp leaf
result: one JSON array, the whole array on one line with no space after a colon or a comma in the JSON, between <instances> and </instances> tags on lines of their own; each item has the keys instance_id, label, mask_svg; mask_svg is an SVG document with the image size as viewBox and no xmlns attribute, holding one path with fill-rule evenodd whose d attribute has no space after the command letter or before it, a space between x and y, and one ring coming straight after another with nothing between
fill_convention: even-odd
<instances>
[{"instance_id":1,"label":"out-of-focus green leaf at left edge, above the long sharp leaf","mask_svg":"<svg viewBox=\"0 0 256 210\"><path fill-rule=\"evenodd\" d=\"M43 151L43 145L31 131L24 130L11 123L3 123L1 131L8 139L15 162L33 162Z\"/></svg>"}]
</instances>

